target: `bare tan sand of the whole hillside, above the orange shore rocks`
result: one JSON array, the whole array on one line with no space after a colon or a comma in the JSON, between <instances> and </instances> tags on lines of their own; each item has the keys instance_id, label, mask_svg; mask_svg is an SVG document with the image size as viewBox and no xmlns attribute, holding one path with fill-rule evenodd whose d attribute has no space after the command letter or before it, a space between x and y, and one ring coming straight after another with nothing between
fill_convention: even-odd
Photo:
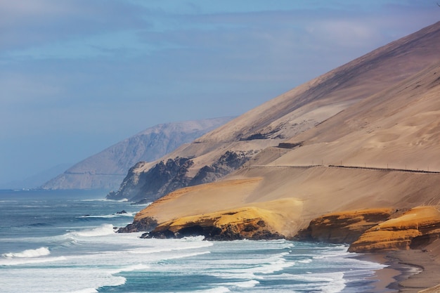
<instances>
[{"instance_id":1,"label":"bare tan sand of the whole hillside, above the orange shore rocks","mask_svg":"<svg viewBox=\"0 0 440 293\"><path fill-rule=\"evenodd\" d=\"M219 148L247 143L239 139L253 131L286 136L283 142L292 148L273 143L224 181L177 190L141 211L135 221L148 216L159 223L179 223L190 217L197 223L204 214L227 216L228 210L257 207L265 210L261 218L269 229L290 237L330 212L429 205L415 209L414 222L408 223L407 215L387 225L417 230L416 222L427 217L440 223L438 213L431 212L440 206L440 172L433 172L440 171L439 48L440 22L202 136L181 152L198 153L207 162ZM313 116L316 122L319 115L319 124L294 133L292 121ZM420 172L428 169L430 173ZM438 233L433 231L433 237ZM437 260L438 242L426 247Z\"/></svg>"}]
</instances>

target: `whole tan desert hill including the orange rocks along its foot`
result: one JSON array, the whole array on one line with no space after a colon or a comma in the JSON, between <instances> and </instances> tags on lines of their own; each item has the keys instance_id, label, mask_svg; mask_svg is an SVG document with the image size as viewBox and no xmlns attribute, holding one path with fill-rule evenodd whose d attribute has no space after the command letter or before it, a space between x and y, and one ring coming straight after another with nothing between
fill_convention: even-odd
<instances>
[{"instance_id":1,"label":"whole tan desert hill including the orange rocks along its foot","mask_svg":"<svg viewBox=\"0 0 440 293\"><path fill-rule=\"evenodd\" d=\"M195 150L222 138L223 145L238 145L243 136L256 134L251 129L267 134L261 130L268 124L258 121L292 118L299 110L310 115L306 107L316 113L337 101L338 110L330 111L331 117L261 150L223 180L179 189L153 202L136 214L132 228L156 226L149 235L153 237L260 239L301 232L301 237L313 238L309 223L327 214L324 219L349 219L337 226L356 230L357 235L370 229L354 242L361 243L357 247L363 252L377 249L375 243L385 250L438 247L439 46L440 22L299 86L181 148ZM313 100L302 96L306 91L327 94ZM286 114L289 95L292 104L302 106ZM303 105L304 98L313 101ZM276 105L284 105L283 110L274 110ZM270 119L264 109L281 114ZM252 123L245 126L245 121ZM290 128L273 129L270 136L278 138L251 142L280 141ZM330 220L317 223L325 229L315 230L335 228ZM375 232L382 229L388 232Z\"/></svg>"}]
</instances>

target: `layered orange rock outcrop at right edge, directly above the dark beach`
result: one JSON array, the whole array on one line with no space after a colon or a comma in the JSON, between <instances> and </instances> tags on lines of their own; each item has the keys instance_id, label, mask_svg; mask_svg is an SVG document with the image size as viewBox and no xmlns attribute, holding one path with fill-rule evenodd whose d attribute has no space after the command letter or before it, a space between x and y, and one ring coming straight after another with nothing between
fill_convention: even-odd
<instances>
[{"instance_id":1,"label":"layered orange rock outcrop at right edge, directly above the dark beach","mask_svg":"<svg viewBox=\"0 0 440 293\"><path fill-rule=\"evenodd\" d=\"M415 207L403 215L368 229L351 243L349 252L423 249L440 236L437 207Z\"/></svg>"}]
</instances>

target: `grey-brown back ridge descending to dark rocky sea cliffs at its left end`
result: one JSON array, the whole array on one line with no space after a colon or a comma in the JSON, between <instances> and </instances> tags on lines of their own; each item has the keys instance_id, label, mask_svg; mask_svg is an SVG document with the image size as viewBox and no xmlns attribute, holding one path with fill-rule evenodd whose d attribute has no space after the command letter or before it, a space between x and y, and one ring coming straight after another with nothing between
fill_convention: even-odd
<instances>
[{"instance_id":1,"label":"grey-brown back ridge descending to dark rocky sea cliffs at its left end","mask_svg":"<svg viewBox=\"0 0 440 293\"><path fill-rule=\"evenodd\" d=\"M156 200L173 189L218 181L221 176L231 173L243 164L250 166L273 162L285 152L301 147L304 141L309 143L306 139L309 136L306 134L313 131L326 131L325 134L330 136L343 130L339 127L346 129L365 124L368 117L363 118L363 121L354 116L347 117L352 119L348 126L335 125L331 129L320 126L351 106L363 107L364 100L367 103L371 96L439 62L439 39L440 22L297 86L156 162L137 164L124 179L121 188L111 197L129 198L133 201ZM398 106L400 105L396 105ZM303 132L304 138L301 138ZM387 135L392 136L391 133ZM276 146L280 148L269 148ZM318 164L324 159L333 164L337 159L340 161L345 158L338 156L330 160L330 155L325 150L330 150L331 146L321 145L323 149L319 156L304 153L304 157L297 159L301 164ZM260 154L261 150L266 151ZM179 165L181 158L188 159L188 162ZM368 162L374 162L375 166L380 164L374 158L362 163ZM173 171L178 165L179 171ZM431 166L433 167L433 163ZM158 182L162 185L158 186Z\"/></svg>"}]
</instances>

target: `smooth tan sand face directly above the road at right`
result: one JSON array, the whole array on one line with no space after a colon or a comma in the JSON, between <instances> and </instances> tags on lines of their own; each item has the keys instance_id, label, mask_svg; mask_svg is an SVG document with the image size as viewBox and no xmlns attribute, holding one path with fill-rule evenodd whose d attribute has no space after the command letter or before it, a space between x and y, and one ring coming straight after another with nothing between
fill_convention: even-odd
<instances>
[{"instance_id":1,"label":"smooth tan sand face directly above the road at right","mask_svg":"<svg viewBox=\"0 0 440 293\"><path fill-rule=\"evenodd\" d=\"M279 164L342 164L440 171L440 63L356 103L289 142Z\"/></svg>"}]
</instances>

